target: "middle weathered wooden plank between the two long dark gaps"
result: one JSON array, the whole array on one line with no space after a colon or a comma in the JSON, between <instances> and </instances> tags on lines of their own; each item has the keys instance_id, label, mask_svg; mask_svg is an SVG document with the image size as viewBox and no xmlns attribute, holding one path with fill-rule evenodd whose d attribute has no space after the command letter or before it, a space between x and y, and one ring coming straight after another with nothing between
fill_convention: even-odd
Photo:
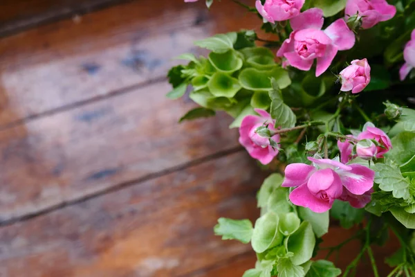
<instances>
[{"instance_id":1,"label":"middle weathered wooden plank between the two long dark gaps","mask_svg":"<svg viewBox=\"0 0 415 277\"><path fill-rule=\"evenodd\" d=\"M0 131L1 221L239 147L226 114L179 125L195 105L165 98L168 89L159 82Z\"/></svg>"}]
</instances>

